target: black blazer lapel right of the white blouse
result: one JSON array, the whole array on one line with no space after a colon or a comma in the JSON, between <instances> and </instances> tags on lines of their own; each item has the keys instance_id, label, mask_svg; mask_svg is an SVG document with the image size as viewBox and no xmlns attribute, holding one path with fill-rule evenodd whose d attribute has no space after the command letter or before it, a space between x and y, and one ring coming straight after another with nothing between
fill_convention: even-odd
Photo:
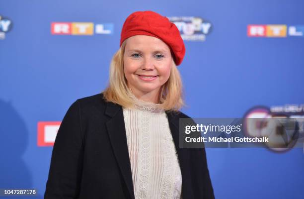
<instances>
[{"instance_id":1,"label":"black blazer lapel right of the white blouse","mask_svg":"<svg viewBox=\"0 0 304 199\"><path fill-rule=\"evenodd\" d=\"M179 147L179 116L177 113L166 111L170 131L175 144L182 174L182 198L193 199L193 191L190 174L190 154L188 148Z\"/></svg>"}]
</instances>

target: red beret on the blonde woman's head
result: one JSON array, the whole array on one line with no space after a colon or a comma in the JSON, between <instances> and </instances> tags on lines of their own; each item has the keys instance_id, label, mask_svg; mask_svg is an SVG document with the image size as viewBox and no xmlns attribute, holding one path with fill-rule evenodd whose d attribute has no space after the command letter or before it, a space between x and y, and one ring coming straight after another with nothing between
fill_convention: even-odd
<instances>
[{"instance_id":1,"label":"red beret on the blonde woman's head","mask_svg":"<svg viewBox=\"0 0 304 199\"><path fill-rule=\"evenodd\" d=\"M148 35L166 43L173 55L176 66L185 56L185 45L176 25L165 16L153 11L136 11L130 14L121 30L120 46L123 41L134 35Z\"/></svg>"}]
</instances>

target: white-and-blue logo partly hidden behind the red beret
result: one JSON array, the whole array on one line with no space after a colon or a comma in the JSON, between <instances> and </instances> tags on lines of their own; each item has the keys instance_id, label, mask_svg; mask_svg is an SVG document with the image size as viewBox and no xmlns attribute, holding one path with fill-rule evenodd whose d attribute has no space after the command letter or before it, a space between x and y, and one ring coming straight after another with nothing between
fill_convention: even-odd
<instances>
[{"instance_id":1,"label":"white-and-blue logo partly hidden behind the red beret","mask_svg":"<svg viewBox=\"0 0 304 199\"><path fill-rule=\"evenodd\" d=\"M206 35L212 30L212 24L201 17L171 16L167 18L176 25L183 40L205 41Z\"/></svg>"}]
</instances>

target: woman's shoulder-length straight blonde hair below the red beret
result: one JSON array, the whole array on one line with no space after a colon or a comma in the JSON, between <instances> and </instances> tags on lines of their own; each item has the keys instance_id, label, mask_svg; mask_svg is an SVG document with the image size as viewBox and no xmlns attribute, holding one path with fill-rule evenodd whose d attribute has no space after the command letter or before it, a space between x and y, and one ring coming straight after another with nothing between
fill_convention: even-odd
<instances>
[{"instance_id":1,"label":"woman's shoulder-length straight blonde hair below the red beret","mask_svg":"<svg viewBox=\"0 0 304 199\"><path fill-rule=\"evenodd\" d=\"M134 101L128 96L127 79L124 74L123 56L126 40L114 54L109 71L109 84L103 91L104 100L132 107ZM159 103L164 110L178 111L184 106L182 81L173 61L168 81L161 86Z\"/></svg>"}]
</instances>

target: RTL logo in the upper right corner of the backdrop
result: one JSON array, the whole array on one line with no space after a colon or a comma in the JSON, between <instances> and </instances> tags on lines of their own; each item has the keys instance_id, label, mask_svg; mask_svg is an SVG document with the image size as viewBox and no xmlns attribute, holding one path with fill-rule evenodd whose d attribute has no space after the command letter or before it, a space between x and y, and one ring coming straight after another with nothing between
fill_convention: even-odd
<instances>
[{"instance_id":1,"label":"RTL logo in the upper right corner of the backdrop","mask_svg":"<svg viewBox=\"0 0 304 199\"><path fill-rule=\"evenodd\" d=\"M248 37L287 37L304 36L304 25L291 25L287 28L284 24L248 25Z\"/></svg>"}]
</instances>

